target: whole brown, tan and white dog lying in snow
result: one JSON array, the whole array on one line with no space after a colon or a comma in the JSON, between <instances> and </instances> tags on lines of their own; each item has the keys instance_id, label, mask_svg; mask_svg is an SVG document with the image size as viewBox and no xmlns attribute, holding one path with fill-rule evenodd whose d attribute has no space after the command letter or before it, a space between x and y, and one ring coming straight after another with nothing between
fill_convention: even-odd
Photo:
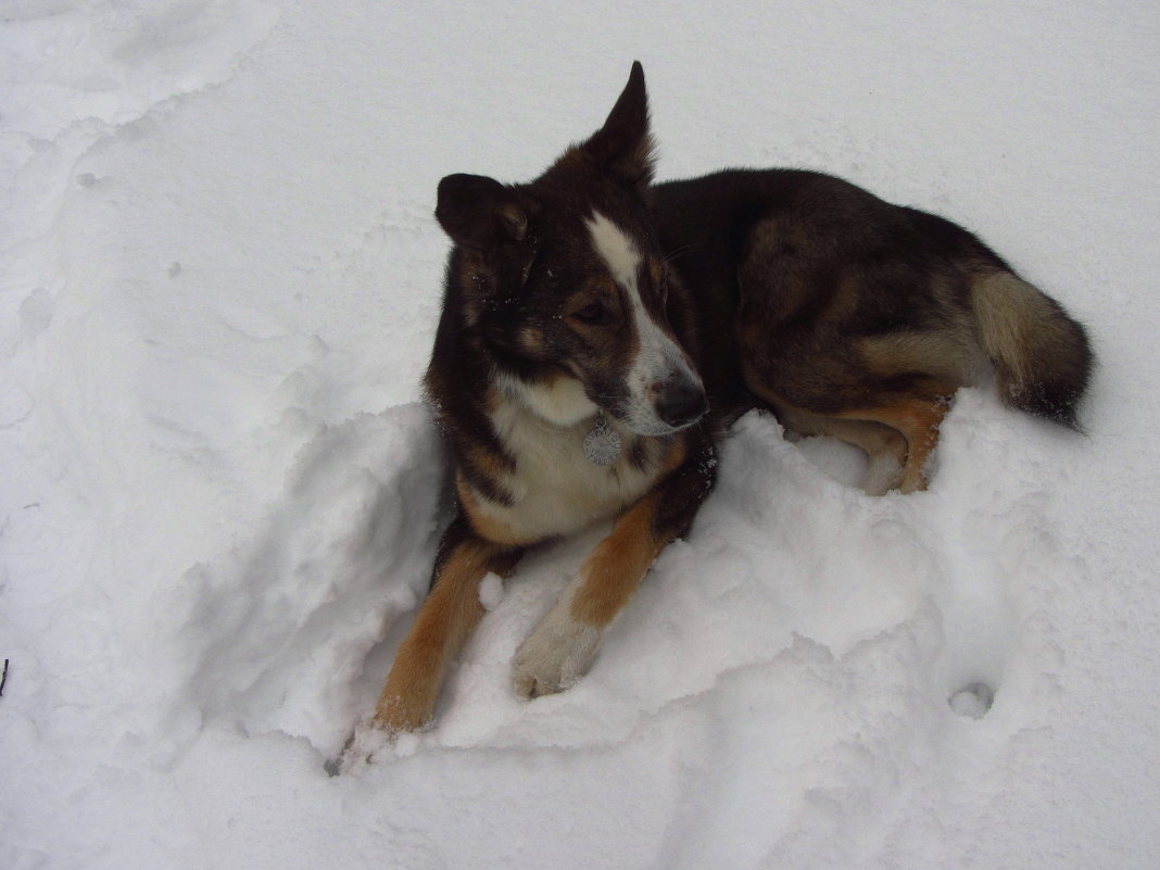
<instances>
[{"instance_id":1,"label":"whole brown, tan and white dog lying in snow","mask_svg":"<svg viewBox=\"0 0 1160 870\"><path fill-rule=\"evenodd\" d=\"M751 408L862 448L870 494L926 487L987 362L1009 405L1079 429L1085 329L960 226L814 172L653 184L639 63L535 181L449 175L437 200L452 247L425 386L457 510L374 732L432 720L488 572L615 519L514 661L528 698L579 680Z\"/></svg>"}]
</instances>

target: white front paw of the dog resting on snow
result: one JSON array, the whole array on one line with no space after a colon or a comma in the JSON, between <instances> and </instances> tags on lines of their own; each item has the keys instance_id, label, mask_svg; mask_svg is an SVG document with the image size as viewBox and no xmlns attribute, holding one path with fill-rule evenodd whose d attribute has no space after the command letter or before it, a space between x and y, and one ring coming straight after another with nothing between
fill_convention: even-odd
<instances>
[{"instance_id":1,"label":"white front paw of the dog resting on snow","mask_svg":"<svg viewBox=\"0 0 1160 870\"><path fill-rule=\"evenodd\" d=\"M516 651L512 684L521 697L563 691L588 673L601 632L572 618L568 609L558 603Z\"/></svg>"}]
</instances>

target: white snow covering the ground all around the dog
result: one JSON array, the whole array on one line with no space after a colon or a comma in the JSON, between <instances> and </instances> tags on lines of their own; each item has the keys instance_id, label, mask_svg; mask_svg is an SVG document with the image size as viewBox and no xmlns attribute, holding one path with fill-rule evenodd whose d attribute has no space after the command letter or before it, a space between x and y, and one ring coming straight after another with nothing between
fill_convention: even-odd
<instances>
[{"instance_id":1,"label":"white snow covering the ground all around the dog","mask_svg":"<svg viewBox=\"0 0 1160 870\"><path fill-rule=\"evenodd\" d=\"M8 2L0 867L1155 867L1158 44L1136 0ZM983 234L1088 324L1088 435L965 390L871 499L751 414L588 676L510 689L600 529L331 776L447 521L435 184L531 177L633 58L662 176Z\"/></svg>"}]
</instances>

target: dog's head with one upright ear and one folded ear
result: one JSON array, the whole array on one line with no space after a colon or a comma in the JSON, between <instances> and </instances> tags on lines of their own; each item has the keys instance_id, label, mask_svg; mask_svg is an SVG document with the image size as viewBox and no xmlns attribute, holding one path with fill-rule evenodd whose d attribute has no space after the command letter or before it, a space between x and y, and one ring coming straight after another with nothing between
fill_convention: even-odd
<instances>
[{"instance_id":1,"label":"dog's head with one upright ear and one folded ear","mask_svg":"<svg viewBox=\"0 0 1160 870\"><path fill-rule=\"evenodd\" d=\"M568 425L597 408L640 435L706 411L701 378L666 313L674 280L650 208L644 71L604 125L528 184L440 182L435 216L456 244L449 281L466 326L541 413Z\"/></svg>"}]
</instances>

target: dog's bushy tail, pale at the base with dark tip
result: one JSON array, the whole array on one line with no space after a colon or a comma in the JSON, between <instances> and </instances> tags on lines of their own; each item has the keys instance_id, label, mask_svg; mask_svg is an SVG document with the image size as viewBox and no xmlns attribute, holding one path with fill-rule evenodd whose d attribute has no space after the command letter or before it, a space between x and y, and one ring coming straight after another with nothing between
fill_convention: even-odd
<instances>
[{"instance_id":1,"label":"dog's bushy tail, pale at the base with dark tip","mask_svg":"<svg viewBox=\"0 0 1160 870\"><path fill-rule=\"evenodd\" d=\"M976 273L971 303L1003 400L1079 430L1076 406L1095 362L1083 327L1006 269Z\"/></svg>"}]
</instances>

